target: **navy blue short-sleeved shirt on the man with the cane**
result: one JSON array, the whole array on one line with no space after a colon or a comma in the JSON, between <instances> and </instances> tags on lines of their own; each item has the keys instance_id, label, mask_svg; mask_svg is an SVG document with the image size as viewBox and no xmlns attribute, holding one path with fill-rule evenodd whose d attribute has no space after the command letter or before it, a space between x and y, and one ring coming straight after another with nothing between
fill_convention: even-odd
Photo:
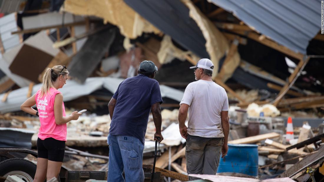
<instances>
[{"instance_id":1,"label":"navy blue short-sleeved shirt on the man with the cane","mask_svg":"<svg viewBox=\"0 0 324 182\"><path fill-rule=\"evenodd\" d=\"M121 82L112 97L117 101L109 133L133 136L144 144L151 106L163 102L159 83L139 74Z\"/></svg>"}]
</instances>

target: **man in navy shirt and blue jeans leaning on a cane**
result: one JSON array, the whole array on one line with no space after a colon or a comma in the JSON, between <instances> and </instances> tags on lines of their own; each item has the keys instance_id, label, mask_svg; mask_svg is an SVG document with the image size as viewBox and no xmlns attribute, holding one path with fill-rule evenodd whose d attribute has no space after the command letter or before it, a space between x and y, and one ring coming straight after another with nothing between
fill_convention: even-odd
<instances>
[{"instance_id":1,"label":"man in navy shirt and blue jeans leaning on a cane","mask_svg":"<svg viewBox=\"0 0 324 182\"><path fill-rule=\"evenodd\" d=\"M111 118L108 135L109 166L107 181L144 181L143 150L148 116L152 111L156 137L161 134L162 96L154 80L157 67L152 61L141 62L138 75L121 82L108 104Z\"/></svg>"}]
</instances>

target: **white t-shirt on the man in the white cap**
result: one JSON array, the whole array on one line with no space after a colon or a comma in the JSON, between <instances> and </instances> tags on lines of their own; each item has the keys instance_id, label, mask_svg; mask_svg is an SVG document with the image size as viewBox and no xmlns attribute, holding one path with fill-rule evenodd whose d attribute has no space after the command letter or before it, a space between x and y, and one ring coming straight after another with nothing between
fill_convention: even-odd
<instances>
[{"instance_id":1,"label":"white t-shirt on the man in the white cap","mask_svg":"<svg viewBox=\"0 0 324 182\"><path fill-rule=\"evenodd\" d=\"M206 138L224 137L221 111L228 111L228 99L223 87L213 81L191 82L181 104L190 106L188 134Z\"/></svg>"}]
</instances>

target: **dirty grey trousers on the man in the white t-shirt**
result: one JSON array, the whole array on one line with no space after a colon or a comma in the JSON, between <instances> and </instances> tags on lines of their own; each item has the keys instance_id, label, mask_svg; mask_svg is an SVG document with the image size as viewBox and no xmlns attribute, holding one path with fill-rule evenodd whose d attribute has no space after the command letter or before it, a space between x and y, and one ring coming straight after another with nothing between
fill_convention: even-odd
<instances>
[{"instance_id":1,"label":"dirty grey trousers on the man in the white t-shirt","mask_svg":"<svg viewBox=\"0 0 324 182\"><path fill-rule=\"evenodd\" d=\"M188 174L215 175L224 137L205 138L187 135L186 160ZM197 178L189 177L189 180Z\"/></svg>"}]
</instances>

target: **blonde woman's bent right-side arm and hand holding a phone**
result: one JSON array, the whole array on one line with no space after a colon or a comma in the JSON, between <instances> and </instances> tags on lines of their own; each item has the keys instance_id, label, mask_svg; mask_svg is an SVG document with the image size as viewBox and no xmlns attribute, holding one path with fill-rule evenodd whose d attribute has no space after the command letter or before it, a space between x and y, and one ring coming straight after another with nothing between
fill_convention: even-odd
<instances>
[{"instance_id":1,"label":"blonde woman's bent right-side arm and hand holding a phone","mask_svg":"<svg viewBox=\"0 0 324 182\"><path fill-rule=\"evenodd\" d=\"M62 93L56 94L54 100L54 116L56 124L65 124L71 120L77 120L82 113L78 113L77 111L72 112L69 116L63 116L63 95Z\"/></svg>"}]
</instances>

